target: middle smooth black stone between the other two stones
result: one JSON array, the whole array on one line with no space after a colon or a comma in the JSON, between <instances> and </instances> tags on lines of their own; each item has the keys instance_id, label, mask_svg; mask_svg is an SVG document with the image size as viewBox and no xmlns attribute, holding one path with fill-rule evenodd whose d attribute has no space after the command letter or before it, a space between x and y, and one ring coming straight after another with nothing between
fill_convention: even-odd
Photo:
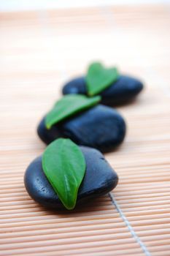
<instances>
[{"instance_id":1,"label":"middle smooth black stone between the other two stones","mask_svg":"<svg viewBox=\"0 0 170 256\"><path fill-rule=\"evenodd\" d=\"M116 110L97 105L77 116L45 127L45 118L40 122L39 138L49 144L57 138L70 138L78 145L97 148L102 152L111 151L125 138L125 121Z\"/></svg>"}]
</instances>

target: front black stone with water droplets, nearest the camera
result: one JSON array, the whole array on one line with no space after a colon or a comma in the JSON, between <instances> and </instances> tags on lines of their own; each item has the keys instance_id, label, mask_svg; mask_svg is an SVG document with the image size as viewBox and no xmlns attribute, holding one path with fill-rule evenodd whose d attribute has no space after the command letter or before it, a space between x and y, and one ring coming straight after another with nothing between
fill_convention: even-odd
<instances>
[{"instance_id":1,"label":"front black stone with water droplets, nearest the camera","mask_svg":"<svg viewBox=\"0 0 170 256\"><path fill-rule=\"evenodd\" d=\"M117 173L104 156L94 148L80 147L85 156L86 171L77 196L77 206L114 189L117 185ZM28 166L24 183L28 194L42 206L63 208L58 195L47 180L42 170L42 157L37 157Z\"/></svg>"}]
</instances>

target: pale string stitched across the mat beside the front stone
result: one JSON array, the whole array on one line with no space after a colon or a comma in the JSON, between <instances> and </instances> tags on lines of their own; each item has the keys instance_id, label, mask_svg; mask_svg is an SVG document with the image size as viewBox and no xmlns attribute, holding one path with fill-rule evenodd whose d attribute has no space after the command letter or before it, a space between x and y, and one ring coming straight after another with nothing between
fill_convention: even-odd
<instances>
[{"instance_id":1,"label":"pale string stitched across the mat beside the front stone","mask_svg":"<svg viewBox=\"0 0 170 256\"><path fill-rule=\"evenodd\" d=\"M134 239L136 240L136 242L139 244L139 246L141 246L143 252L145 253L146 256L151 256L150 252L148 251L147 247L144 245L144 243L141 241L141 239L139 238L139 236L136 235L134 228L131 226L131 224L128 222L128 219L125 217L125 215L123 214L123 211L120 209L120 207L118 206L114 195L112 194L112 192L109 192L109 197L112 200L112 204L115 206L115 208L117 209L118 213L120 214L120 217L123 219L123 221L125 222L125 225L128 227L128 230L131 232L131 236L134 237Z\"/></svg>"}]
</instances>

